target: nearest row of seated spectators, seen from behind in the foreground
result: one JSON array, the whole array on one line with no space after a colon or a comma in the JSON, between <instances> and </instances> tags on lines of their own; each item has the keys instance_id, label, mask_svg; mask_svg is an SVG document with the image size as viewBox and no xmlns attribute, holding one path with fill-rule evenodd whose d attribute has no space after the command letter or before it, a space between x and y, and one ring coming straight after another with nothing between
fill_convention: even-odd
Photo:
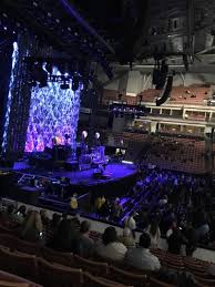
<instances>
[{"instance_id":1,"label":"nearest row of seated spectators, seen from behind in the foreground","mask_svg":"<svg viewBox=\"0 0 215 287\"><path fill-rule=\"evenodd\" d=\"M168 197L163 196L162 198L165 199L162 202L162 208L164 208L168 205ZM161 202L158 204L161 206ZM161 238L157 217L153 217L137 238L134 228L135 216L136 212L132 212L125 218L122 234L117 234L115 227L109 226L104 229L101 238L99 237L96 240L90 236L90 222L80 221L79 216L71 217L66 213L62 215L53 213L52 218L49 218L47 211L27 211L23 205L18 209L10 205L7 209L1 211L0 226L16 230L14 234L18 238L47 246L55 252L72 253L84 258L123 264L131 269L141 271L153 271L157 278L168 276L168 270L163 266L156 253L153 252L157 249ZM192 232L194 229L192 228ZM192 232L191 229L186 232L186 234L182 232L175 221L172 222L166 232L170 253L178 255L181 245L185 244L187 254L193 254ZM212 265L208 268L211 275L209 269L213 269L213 267ZM175 280L177 280L177 273L174 275Z\"/></svg>"}]
</instances>

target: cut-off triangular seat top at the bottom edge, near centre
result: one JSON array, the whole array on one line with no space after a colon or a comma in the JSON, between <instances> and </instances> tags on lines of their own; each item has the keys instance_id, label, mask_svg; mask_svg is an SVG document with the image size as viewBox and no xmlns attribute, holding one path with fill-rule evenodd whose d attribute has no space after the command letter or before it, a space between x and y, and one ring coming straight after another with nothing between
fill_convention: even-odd
<instances>
[{"instance_id":1,"label":"cut-off triangular seat top at the bottom edge, near centre","mask_svg":"<svg viewBox=\"0 0 215 287\"><path fill-rule=\"evenodd\" d=\"M122 285L102 277L95 277L89 273L84 273L84 284L85 287L127 287L127 285ZM132 286L130 286L132 287Z\"/></svg>"}]
</instances>

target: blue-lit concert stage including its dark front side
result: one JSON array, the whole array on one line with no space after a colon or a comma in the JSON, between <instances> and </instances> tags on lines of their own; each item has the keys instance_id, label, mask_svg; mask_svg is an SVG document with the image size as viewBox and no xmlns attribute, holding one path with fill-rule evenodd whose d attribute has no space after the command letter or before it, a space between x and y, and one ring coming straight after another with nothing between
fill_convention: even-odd
<instances>
[{"instance_id":1,"label":"blue-lit concert stage including its dark front side","mask_svg":"<svg viewBox=\"0 0 215 287\"><path fill-rule=\"evenodd\" d=\"M83 194L88 194L88 201L93 203L99 195L116 197L127 193L135 183L137 174L137 168L134 165L123 163L108 164L104 170L105 178L94 178L94 168L86 171L55 170L50 173L44 170L34 170L27 163L16 163L13 168L10 170L13 180L10 180L12 184L10 184L10 191L6 195L17 201L37 205L41 201L44 202L53 198L53 196L50 196L45 188L39 188L28 184L18 185L14 177L19 180L25 175L32 178L43 178L52 183L59 182L60 178L66 178L66 186L64 188L66 193L64 197L60 195L60 188L63 185L60 183L58 185L53 184L53 186L57 185L59 188L59 198L55 199L63 202L76 193L80 198ZM3 196L4 194L1 195Z\"/></svg>"}]
</instances>

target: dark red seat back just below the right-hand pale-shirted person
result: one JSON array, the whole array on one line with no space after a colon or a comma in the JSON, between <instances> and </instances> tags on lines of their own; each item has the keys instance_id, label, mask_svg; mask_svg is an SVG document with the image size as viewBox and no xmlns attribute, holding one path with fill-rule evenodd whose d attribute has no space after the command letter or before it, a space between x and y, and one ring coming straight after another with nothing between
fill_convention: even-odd
<instances>
[{"instance_id":1,"label":"dark red seat back just below the right-hand pale-shirted person","mask_svg":"<svg viewBox=\"0 0 215 287\"><path fill-rule=\"evenodd\" d=\"M125 285L133 285L135 287L143 287L147 285L147 275L140 275L131 271L120 269L113 265L110 266L109 278Z\"/></svg>"}]
</instances>

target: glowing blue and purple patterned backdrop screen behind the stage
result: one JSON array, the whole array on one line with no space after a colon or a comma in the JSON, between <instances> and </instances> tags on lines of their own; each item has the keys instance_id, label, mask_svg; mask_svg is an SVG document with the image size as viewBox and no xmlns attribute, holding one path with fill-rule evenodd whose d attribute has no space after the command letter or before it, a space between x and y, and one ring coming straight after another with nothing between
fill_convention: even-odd
<instances>
[{"instance_id":1,"label":"glowing blue and purple patterned backdrop screen behind the stage","mask_svg":"<svg viewBox=\"0 0 215 287\"><path fill-rule=\"evenodd\" d=\"M53 74L60 74L57 68ZM70 136L69 144L74 145L80 89L75 92L71 89L62 90L57 82L48 82L44 88L32 88L25 152L42 152L45 146L52 147L53 139L64 145L65 135Z\"/></svg>"}]
</instances>

